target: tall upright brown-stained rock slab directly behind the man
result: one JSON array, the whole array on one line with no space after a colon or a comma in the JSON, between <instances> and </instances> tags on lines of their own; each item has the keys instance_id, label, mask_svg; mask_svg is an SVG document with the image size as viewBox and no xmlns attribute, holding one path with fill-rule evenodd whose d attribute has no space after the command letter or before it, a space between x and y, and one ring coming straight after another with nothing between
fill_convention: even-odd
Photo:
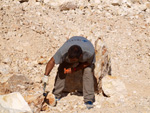
<instances>
[{"instance_id":1,"label":"tall upright brown-stained rock slab directly behind the man","mask_svg":"<svg viewBox=\"0 0 150 113\"><path fill-rule=\"evenodd\" d=\"M111 75L111 61L108 49L101 38L95 41L95 53L96 53L96 63L94 75L96 77L95 88L97 88L97 93L101 92L102 83L101 80L106 75Z\"/></svg>"}]
</instances>

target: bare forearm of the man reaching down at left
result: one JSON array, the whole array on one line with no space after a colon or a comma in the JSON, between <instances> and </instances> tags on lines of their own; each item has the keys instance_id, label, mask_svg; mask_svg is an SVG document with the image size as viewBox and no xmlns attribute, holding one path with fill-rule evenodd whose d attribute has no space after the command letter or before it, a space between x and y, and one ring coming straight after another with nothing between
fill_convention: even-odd
<instances>
[{"instance_id":1,"label":"bare forearm of the man reaching down at left","mask_svg":"<svg viewBox=\"0 0 150 113\"><path fill-rule=\"evenodd\" d=\"M50 59L50 61L47 63L47 65L46 65L46 69L45 69L44 75L47 75L47 76L48 76L49 73L51 72L51 70L53 69L54 65L55 65L55 60L54 60L54 58L52 57L52 58Z\"/></svg>"}]
</instances>

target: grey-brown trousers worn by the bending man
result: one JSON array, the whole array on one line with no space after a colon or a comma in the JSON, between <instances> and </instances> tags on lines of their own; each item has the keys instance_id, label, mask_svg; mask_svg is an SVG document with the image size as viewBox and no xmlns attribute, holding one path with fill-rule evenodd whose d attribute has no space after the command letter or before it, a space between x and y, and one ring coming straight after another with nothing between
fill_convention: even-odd
<instances>
[{"instance_id":1,"label":"grey-brown trousers worn by the bending man","mask_svg":"<svg viewBox=\"0 0 150 113\"><path fill-rule=\"evenodd\" d=\"M57 76L55 78L55 84L54 84L54 89L53 89L53 94L57 98L61 98L62 91L65 88L65 79L66 76L69 76L69 74L64 74L64 68L70 68L74 67L73 64L69 64L66 62L63 62L62 64L59 65L58 71L57 71ZM92 101L94 102L95 100L95 95L94 95L94 76L93 76L93 66L89 66L81 70L82 73L77 73L77 76L83 76L82 77L82 82L83 82L83 96L84 96L84 102L87 101ZM78 81L80 82L80 81Z\"/></svg>"}]
</instances>

